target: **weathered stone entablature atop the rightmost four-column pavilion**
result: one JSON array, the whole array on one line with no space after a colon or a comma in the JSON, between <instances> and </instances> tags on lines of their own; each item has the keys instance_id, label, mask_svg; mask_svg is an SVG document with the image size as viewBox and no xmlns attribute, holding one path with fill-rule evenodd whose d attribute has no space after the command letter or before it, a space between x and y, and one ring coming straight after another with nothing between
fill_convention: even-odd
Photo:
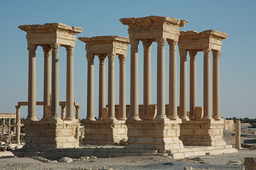
<instances>
[{"instance_id":1,"label":"weathered stone entablature atop the rightmost four-column pavilion","mask_svg":"<svg viewBox=\"0 0 256 170\"><path fill-rule=\"evenodd\" d=\"M180 31L178 40L179 49L203 51L204 48L220 50L221 40L226 39L228 34L216 30Z\"/></svg>"}]
</instances>

